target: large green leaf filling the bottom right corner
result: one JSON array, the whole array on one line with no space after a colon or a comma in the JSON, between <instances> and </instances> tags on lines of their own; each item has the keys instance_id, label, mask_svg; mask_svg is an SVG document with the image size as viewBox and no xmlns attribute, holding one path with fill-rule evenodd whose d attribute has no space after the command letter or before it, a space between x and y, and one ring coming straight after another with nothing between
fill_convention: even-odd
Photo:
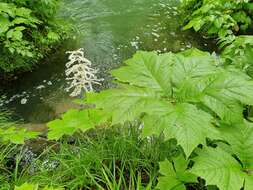
<instances>
[{"instance_id":1,"label":"large green leaf filling the bottom right corner","mask_svg":"<svg viewBox=\"0 0 253 190\"><path fill-rule=\"evenodd\" d=\"M230 144L227 148L204 148L195 159L192 172L216 184L221 190L238 190L244 184L245 190L252 189L252 144L253 125L224 126L223 139Z\"/></svg>"}]
</instances>

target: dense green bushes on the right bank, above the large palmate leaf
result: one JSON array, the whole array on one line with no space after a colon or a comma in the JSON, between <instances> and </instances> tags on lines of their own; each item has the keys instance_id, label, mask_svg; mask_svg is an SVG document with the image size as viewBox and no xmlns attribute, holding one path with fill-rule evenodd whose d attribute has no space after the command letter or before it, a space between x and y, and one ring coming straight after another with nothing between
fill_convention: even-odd
<instances>
[{"instance_id":1,"label":"dense green bushes on the right bank, above the large palmate leaf","mask_svg":"<svg viewBox=\"0 0 253 190\"><path fill-rule=\"evenodd\" d=\"M217 39L224 66L253 76L253 3L249 0L183 0L184 29Z\"/></svg>"}]
</instances>

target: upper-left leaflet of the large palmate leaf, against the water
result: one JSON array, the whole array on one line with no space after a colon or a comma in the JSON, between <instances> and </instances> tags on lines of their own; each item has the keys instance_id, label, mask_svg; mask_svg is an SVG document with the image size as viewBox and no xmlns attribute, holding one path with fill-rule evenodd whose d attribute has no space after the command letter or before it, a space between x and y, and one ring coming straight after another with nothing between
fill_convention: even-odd
<instances>
[{"instance_id":1,"label":"upper-left leaflet of the large palmate leaf, against the water","mask_svg":"<svg viewBox=\"0 0 253 190\"><path fill-rule=\"evenodd\" d=\"M153 52L137 52L126 65L112 71L121 82L171 93L170 60L173 54L157 55Z\"/></svg>"}]
</instances>

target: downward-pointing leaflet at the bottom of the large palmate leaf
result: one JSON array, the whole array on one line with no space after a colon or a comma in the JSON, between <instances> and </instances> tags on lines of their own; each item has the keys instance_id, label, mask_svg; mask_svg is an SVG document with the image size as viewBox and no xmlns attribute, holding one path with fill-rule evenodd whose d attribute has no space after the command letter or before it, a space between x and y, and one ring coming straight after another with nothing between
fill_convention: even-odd
<instances>
[{"instance_id":1,"label":"downward-pointing leaflet at the bottom of the large palmate leaf","mask_svg":"<svg viewBox=\"0 0 253 190\"><path fill-rule=\"evenodd\" d=\"M218 135L211 124L211 115L191 104L177 105L175 112L168 115L166 120L169 121L164 130L166 138L176 138L187 157L199 144L205 144L207 137Z\"/></svg>"}]
</instances>

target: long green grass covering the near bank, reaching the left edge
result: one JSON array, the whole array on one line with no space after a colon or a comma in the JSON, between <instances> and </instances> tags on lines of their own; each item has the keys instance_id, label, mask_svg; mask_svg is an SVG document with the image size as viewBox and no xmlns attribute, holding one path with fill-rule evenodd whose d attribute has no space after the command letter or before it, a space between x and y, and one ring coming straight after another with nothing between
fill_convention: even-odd
<instances>
[{"instance_id":1,"label":"long green grass covering the near bank, reaching the left edge","mask_svg":"<svg viewBox=\"0 0 253 190\"><path fill-rule=\"evenodd\" d=\"M39 139L22 146L0 143L0 190L25 182L68 190L155 189L159 162L179 155L181 148L176 140L164 141L163 136L143 139L137 126L97 128L59 142L45 141L41 149ZM37 155L31 160L29 149ZM203 180L188 184L187 189L207 190Z\"/></svg>"}]
</instances>

